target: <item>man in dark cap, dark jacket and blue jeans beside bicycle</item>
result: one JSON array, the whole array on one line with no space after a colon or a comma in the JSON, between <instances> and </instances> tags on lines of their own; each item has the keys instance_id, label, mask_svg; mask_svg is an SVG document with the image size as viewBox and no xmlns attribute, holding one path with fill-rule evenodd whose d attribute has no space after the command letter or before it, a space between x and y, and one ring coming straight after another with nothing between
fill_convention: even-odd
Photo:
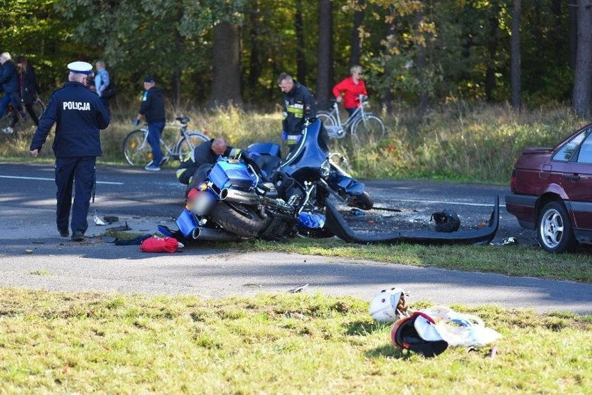
<instances>
[{"instance_id":1,"label":"man in dark cap, dark jacket and blue jeans beside bicycle","mask_svg":"<svg viewBox=\"0 0 592 395\"><path fill-rule=\"evenodd\" d=\"M152 149L152 160L146 165L149 171L161 170L163 153L161 152L161 133L165 129L167 115L165 113L165 99L160 89L156 88L156 80L153 76L144 79L145 92L142 95L140 111L133 124L138 126L142 117L146 117L148 124L148 143Z\"/></svg>"}]
</instances>

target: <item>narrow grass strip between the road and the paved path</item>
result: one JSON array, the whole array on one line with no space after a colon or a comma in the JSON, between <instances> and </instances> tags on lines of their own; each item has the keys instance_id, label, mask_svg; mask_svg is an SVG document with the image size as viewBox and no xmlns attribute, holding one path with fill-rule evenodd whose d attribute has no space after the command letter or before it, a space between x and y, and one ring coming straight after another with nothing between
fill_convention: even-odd
<instances>
[{"instance_id":1,"label":"narrow grass strip between the road and the paved path","mask_svg":"<svg viewBox=\"0 0 592 395\"><path fill-rule=\"evenodd\" d=\"M359 245L347 244L338 239L290 239L285 243L245 241L215 245L217 248L293 252L354 261L379 261L385 264L592 283L589 249L555 255L545 252L542 248L521 245Z\"/></svg>"}]
</instances>

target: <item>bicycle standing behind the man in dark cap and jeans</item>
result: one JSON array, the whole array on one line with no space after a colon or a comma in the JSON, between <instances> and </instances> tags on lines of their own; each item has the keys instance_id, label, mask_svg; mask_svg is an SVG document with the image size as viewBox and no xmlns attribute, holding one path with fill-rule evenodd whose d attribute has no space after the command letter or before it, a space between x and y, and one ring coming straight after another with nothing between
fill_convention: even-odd
<instances>
[{"instance_id":1,"label":"bicycle standing behind the man in dark cap and jeans","mask_svg":"<svg viewBox=\"0 0 592 395\"><path fill-rule=\"evenodd\" d=\"M179 138L167 144L161 135L161 150L164 153L163 162L170 159L186 161L197 145L209 141L210 138L201 131L188 131L189 117L175 118L181 122ZM164 131L163 131L164 134ZM148 127L133 130L127 134L123 142L123 154L127 163L131 166L146 166L152 160L152 149L148 143Z\"/></svg>"}]
</instances>

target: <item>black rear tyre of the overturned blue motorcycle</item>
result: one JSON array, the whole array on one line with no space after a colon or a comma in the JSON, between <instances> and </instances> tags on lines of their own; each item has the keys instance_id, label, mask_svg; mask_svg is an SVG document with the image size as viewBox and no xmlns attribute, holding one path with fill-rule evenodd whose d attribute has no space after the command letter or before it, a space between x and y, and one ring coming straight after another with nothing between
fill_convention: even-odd
<instances>
[{"instance_id":1,"label":"black rear tyre of the overturned blue motorcycle","mask_svg":"<svg viewBox=\"0 0 592 395\"><path fill-rule=\"evenodd\" d=\"M243 204L218 202L210 213L218 225L240 237L255 237L268 225L253 207Z\"/></svg>"}]
</instances>

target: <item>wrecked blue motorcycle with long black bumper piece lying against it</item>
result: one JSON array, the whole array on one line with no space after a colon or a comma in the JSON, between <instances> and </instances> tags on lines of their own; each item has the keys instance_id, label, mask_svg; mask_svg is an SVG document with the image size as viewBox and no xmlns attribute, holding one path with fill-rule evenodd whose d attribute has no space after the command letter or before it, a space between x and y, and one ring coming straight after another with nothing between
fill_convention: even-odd
<instances>
[{"instance_id":1,"label":"wrecked blue motorcycle with long black bumper piece lying against it","mask_svg":"<svg viewBox=\"0 0 592 395\"><path fill-rule=\"evenodd\" d=\"M282 161L274 143L255 143L238 159L219 158L204 172L203 182L187 195L176 219L178 231L159 227L163 234L186 240L281 240L297 234L338 236L348 243L477 243L493 240L499 204L494 202L488 226L451 234L396 231L354 232L334 201L372 209L364 184L342 167L345 159L331 154L320 120L306 122L297 147ZM201 179L201 178L200 178ZM334 199L336 198L336 199Z\"/></svg>"}]
</instances>

